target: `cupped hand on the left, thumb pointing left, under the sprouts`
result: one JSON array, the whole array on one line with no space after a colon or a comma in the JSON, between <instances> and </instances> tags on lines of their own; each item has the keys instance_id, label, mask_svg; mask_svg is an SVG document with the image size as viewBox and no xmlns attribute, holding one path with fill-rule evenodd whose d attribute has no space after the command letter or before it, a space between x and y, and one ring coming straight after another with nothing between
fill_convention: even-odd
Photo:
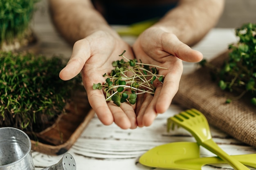
<instances>
[{"instance_id":1,"label":"cupped hand on the left, thumb pointing left, under the sprouts","mask_svg":"<svg viewBox=\"0 0 256 170\"><path fill-rule=\"evenodd\" d=\"M115 122L120 128L127 129L137 127L134 106L124 103L118 107L113 102L106 102L103 91L92 88L94 83L106 82L103 74L110 73L112 62L120 60L119 55L124 50L132 59L130 46L118 35L96 31L74 44L72 56L60 77L69 80L81 72L88 100L101 122L104 125Z\"/></svg>"}]
</instances>

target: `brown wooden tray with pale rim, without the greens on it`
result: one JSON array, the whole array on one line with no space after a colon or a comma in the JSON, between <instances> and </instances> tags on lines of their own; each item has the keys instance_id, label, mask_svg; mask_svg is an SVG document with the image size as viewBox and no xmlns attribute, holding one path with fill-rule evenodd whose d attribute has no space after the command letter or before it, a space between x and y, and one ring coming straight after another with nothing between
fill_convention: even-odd
<instances>
[{"instance_id":1,"label":"brown wooden tray with pale rim, without the greens on it","mask_svg":"<svg viewBox=\"0 0 256 170\"><path fill-rule=\"evenodd\" d=\"M38 141L31 140L31 150L47 155L61 155L71 148L94 116L86 93L78 93L65 106L66 113L51 127L36 133Z\"/></svg>"}]
</instances>

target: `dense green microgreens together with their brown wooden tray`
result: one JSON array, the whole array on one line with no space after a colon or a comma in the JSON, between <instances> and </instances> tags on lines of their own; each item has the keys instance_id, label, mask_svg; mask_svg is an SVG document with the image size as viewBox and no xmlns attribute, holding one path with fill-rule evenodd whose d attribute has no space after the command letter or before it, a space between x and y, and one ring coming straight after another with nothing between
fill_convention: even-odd
<instances>
[{"instance_id":1,"label":"dense green microgreens together with their brown wooden tray","mask_svg":"<svg viewBox=\"0 0 256 170\"><path fill-rule=\"evenodd\" d=\"M29 135L32 150L66 152L94 113L81 76L59 78L60 56L0 51L0 127Z\"/></svg>"}]
</instances>

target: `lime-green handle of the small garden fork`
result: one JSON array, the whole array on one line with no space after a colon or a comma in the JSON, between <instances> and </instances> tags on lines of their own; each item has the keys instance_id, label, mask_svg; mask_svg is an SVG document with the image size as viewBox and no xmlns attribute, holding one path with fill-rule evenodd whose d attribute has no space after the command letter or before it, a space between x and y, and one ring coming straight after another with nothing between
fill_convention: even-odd
<instances>
[{"instance_id":1,"label":"lime-green handle of the small garden fork","mask_svg":"<svg viewBox=\"0 0 256 170\"><path fill-rule=\"evenodd\" d=\"M223 151L212 139L200 143L204 148L216 154L218 157L229 163L235 170L249 170L243 163Z\"/></svg>"}]
</instances>

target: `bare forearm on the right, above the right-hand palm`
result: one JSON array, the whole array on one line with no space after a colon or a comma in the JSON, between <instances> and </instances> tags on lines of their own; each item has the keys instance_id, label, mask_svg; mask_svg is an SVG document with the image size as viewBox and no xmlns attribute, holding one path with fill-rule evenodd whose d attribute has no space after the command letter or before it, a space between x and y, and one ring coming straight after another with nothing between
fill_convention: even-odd
<instances>
[{"instance_id":1,"label":"bare forearm on the right, above the right-hand palm","mask_svg":"<svg viewBox=\"0 0 256 170\"><path fill-rule=\"evenodd\" d=\"M155 26L174 33L180 41L192 46L215 26L223 6L224 0L182 0Z\"/></svg>"}]
</instances>

